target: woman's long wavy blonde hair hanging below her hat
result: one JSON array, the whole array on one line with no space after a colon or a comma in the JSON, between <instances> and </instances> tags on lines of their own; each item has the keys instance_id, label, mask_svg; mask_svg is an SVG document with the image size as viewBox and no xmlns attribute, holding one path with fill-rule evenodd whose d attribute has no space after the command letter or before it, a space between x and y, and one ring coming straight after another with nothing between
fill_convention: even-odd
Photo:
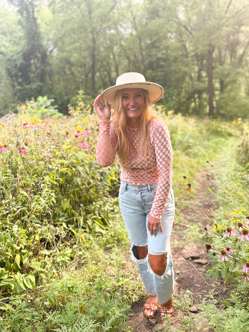
<instances>
[{"instance_id":1,"label":"woman's long wavy blonde hair hanging below her hat","mask_svg":"<svg viewBox=\"0 0 249 332\"><path fill-rule=\"evenodd\" d=\"M141 89L144 96L144 109L142 112L140 120L140 130L141 130L141 146L140 152L143 150L144 155L149 149L149 122L152 119L158 118L154 114L153 106L149 99L149 94L147 90ZM119 161L123 167L128 166L128 153L129 153L129 140L127 137L127 115L125 114L123 102L122 102L122 90L119 91L115 97L113 104L113 122L114 127L118 136L118 143L116 149L119 155Z\"/></svg>"}]
</instances>

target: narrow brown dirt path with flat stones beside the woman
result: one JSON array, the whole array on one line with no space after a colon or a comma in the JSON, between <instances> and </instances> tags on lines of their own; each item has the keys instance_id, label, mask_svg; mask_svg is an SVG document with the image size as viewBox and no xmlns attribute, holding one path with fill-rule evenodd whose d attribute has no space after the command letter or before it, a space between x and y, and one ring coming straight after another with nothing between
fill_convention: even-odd
<instances>
[{"instance_id":1,"label":"narrow brown dirt path with flat stones beside the woman","mask_svg":"<svg viewBox=\"0 0 249 332\"><path fill-rule=\"evenodd\" d=\"M205 241L193 236L196 225L202 230L203 238L210 235L213 228L211 220L216 207L215 196L206 190L210 185L211 176L202 175L200 185L192 188L194 197L187 197L177 214L181 222L174 222L171 235L171 251L175 271L174 315L169 321L167 331L213 331L208 329L207 321L201 319L201 309L198 304L203 299L216 297L225 298L226 289L221 288L221 280L206 279L206 272L211 267L210 253L207 254ZM179 207L178 207L179 209ZM191 231L192 229L192 231ZM189 237L188 237L189 235ZM189 243L188 239L192 239ZM134 266L136 268L136 266ZM228 295L228 294L227 294ZM166 320L161 319L159 310L153 319L148 319L142 312L144 300L132 306L130 318L131 331L152 332L163 331ZM218 305L218 298L215 300ZM186 329L188 324L188 329ZM193 326L194 325L194 326Z\"/></svg>"}]
</instances>

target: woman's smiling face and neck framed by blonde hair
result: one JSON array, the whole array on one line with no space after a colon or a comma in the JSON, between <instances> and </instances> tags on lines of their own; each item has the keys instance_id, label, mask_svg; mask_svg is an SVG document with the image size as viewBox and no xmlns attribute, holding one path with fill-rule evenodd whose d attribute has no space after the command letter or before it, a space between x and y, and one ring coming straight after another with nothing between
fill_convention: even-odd
<instances>
[{"instance_id":1,"label":"woman's smiling face and neck framed by blonde hair","mask_svg":"<svg viewBox=\"0 0 249 332\"><path fill-rule=\"evenodd\" d=\"M128 117L128 125L133 128L138 127L145 105L142 89L131 88L122 90L122 104Z\"/></svg>"}]
</instances>

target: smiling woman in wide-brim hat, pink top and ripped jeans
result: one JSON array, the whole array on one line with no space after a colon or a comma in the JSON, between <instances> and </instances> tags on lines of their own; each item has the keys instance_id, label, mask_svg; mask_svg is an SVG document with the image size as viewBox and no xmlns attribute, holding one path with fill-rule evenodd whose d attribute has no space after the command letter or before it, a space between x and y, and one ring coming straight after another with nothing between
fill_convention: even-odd
<instances>
[{"instance_id":1,"label":"smiling woman in wide-brim hat, pink top and ripped jeans","mask_svg":"<svg viewBox=\"0 0 249 332\"><path fill-rule=\"evenodd\" d=\"M160 85L146 82L139 73L125 73L94 101L100 118L96 158L107 167L117 154L121 165L120 208L131 258L149 294L143 306L149 318L155 316L158 303L162 318L174 311L172 147L166 124L152 108L162 95Z\"/></svg>"}]
</instances>

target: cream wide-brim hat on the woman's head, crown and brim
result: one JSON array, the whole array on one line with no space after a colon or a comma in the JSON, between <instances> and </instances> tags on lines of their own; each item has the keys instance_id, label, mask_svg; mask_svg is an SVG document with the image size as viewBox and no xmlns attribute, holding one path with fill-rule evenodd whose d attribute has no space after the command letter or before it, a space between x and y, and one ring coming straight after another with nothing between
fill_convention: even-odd
<instances>
[{"instance_id":1,"label":"cream wide-brim hat on the woman's head, crown and brim","mask_svg":"<svg viewBox=\"0 0 249 332\"><path fill-rule=\"evenodd\" d=\"M107 99L108 104L113 105L117 93L128 88L139 88L147 90L151 103L155 103L163 96L163 88L156 83L146 82L142 74L124 73L117 78L116 85L104 90L101 99Z\"/></svg>"}]
</instances>

